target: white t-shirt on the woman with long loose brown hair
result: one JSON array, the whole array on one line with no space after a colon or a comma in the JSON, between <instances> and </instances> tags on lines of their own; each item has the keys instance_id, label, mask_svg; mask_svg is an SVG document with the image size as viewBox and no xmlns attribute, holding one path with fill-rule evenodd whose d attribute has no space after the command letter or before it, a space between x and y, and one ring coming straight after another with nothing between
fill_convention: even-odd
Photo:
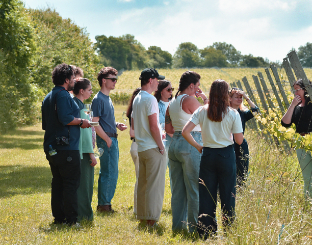
<instances>
[{"instance_id":1,"label":"white t-shirt on the woman with long loose brown hair","mask_svg":"<svg viewBox=\"0 0 312 245\"><path fill-rule=\"evenodd\" d=\"M207 117L207 105L200 106L190 118L190 122L200 125L204 147L224 148L234 144L232 133L243 132L240 114L230 107L221 122L213 122Z\"/></svg>"}]
</instances>

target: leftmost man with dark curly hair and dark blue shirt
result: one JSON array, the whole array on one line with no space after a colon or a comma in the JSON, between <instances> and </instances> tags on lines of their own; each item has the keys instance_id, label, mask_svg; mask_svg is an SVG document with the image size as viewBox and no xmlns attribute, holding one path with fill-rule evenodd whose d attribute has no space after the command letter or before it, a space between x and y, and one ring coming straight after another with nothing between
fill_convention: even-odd
<instances>
[{"instance_id":1,"label":"leftmost man with dark curly hair and dark blue shirt","mask_svg":"<svg viewBox=\"0 0 312 245\"><path fill-rule=\"evenodd\" d=\"M45 130L43 149L53 175L52 215L54 224L74 225L77 222L77 188L80 184L80 127L91 125L88 120L80 119L79 107L68 93L75 82L72 67L64 63L56 66L52 81L55 87L41 106L42 129Z\"/></svg>"}]
</instances>

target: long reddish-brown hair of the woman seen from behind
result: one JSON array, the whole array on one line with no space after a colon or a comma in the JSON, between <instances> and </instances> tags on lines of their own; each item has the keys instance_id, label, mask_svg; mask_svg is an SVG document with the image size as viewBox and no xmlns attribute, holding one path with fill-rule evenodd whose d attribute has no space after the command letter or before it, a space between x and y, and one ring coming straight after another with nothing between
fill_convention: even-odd
<instances>
[{"instance_id":1,"label":"long reddish-brown hair of the woman seen from behind","mask_svg":"<svg viewBox=\"0 0 312 245\"><path fill-rule=\"evenodd\" d=\"M207 117L213 122L221 122L227 114L228 101L228 83L225 80L217 79L211 85L209 92L209 106L207 109Z\"/></svg>"}]
</instances>

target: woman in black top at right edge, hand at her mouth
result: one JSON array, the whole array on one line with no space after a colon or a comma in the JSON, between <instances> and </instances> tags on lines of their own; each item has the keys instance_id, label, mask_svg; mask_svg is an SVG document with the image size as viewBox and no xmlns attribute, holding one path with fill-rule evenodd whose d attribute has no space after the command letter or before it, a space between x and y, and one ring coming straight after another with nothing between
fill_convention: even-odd
<instances>
[{"instance_id":1,"label":"woman in black top at right edge, hand at her mouth","mask_svg":"<svg viewBox=\"0 0 312 245\"><path fill-rule=\"evenodd\" d=\"M311 82L309 81L309 84ZM295 98L289 106L287 112L282 117L281 124L284 127L290 127L293 123L296 125L296 132L302 136L312 132L312 103L306 89L311 89L310 86L305 88L302 79L295 81ZM312 156L311 152L305 149L296 149L302 176L304 180L304 195L312 198Z\"/></svg>"}]
</instances>

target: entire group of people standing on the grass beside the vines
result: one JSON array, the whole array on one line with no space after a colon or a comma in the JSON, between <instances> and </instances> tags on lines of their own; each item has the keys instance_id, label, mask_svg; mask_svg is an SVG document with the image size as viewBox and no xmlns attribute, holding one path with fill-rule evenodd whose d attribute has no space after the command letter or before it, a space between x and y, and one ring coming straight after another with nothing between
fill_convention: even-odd
<instances>
[{"instance_id":1,"label":"entire group of people standing on the grass beside the vines","mask_svg":"<svg viewBox=\"0 0 312 245\"><path fill-rule=\"evenodd\" d=\"M117 128L121 131L127 128L115 121L109 97L115 89L117 74L113 67L102 68L98 73L100 91L92 101L91 120L84 113L84 100L93 93L92 86L83 77L82 69L61 64L53 70L55 88L42 102L42 128L44 151L53 174L54 224L76 225L83 219L93 220L95 142L104 152L100 156L96 210L114 212L111 200L118 179ZM199 88L200 78L194 71L184 72L173 96L175 88L165 76L155 69L144 69L139 77L141 87L134 91L126 115L131 126L131 156L136 173L136 218L142 224L157 226L168 167L172 230L197 230L207 238L217 232L218 193L225 231L235 219L236 187L243 186L248 176L245 123L258 108L242 89L229 88L222 79L213 81L208 98ZM294 88L295 98L281 123L285 127L295 123L296 131L305 135L312 131L312 105L301 79L294 83ZM98 126L93 128L91 123ZM311 198L311 153L297 149L297 156L304 192Z\"/></svg>"}]
</instances>

